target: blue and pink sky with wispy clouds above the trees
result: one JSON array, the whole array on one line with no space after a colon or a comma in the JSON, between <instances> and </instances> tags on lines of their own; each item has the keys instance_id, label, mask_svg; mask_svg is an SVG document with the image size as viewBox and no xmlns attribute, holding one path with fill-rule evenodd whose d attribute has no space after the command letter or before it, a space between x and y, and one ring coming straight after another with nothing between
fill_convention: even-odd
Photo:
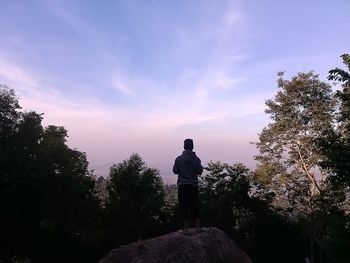
<instances>
[{"instance_id":1,"label":"blue and pink sky with wispy clouds above the trees","mask_svg":"<svg viewBox=\"0 0 350 263\"><path fill-rule=\"evenodd\" d=\"M0 0L0 84L99 176L139 153L174 183L186 138L203 165L253 169L277 72L326 81L350 52L349 13L350 0Z\"/></svg>"}]
</instances>

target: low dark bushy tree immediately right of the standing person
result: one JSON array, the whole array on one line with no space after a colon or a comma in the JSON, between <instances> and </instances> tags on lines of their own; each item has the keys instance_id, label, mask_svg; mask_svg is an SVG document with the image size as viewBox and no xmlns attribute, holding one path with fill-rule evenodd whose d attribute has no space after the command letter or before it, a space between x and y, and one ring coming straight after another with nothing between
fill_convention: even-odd
<instances>
[{"instance_id":1,"label":"low dark bushy tree immediately right of the standing person","mask_svg":"<svg viewBox=\"0 0 350 263\"><path fill-rule=\"evenodd\" d=\"M303 238L260 199L252 184L251 171L241 163L209 162L200 185L201 218L205 225L224 230L254 262L297 262ZM304 251L302 251L304 252Z\"/></svg>"}]
</instances>

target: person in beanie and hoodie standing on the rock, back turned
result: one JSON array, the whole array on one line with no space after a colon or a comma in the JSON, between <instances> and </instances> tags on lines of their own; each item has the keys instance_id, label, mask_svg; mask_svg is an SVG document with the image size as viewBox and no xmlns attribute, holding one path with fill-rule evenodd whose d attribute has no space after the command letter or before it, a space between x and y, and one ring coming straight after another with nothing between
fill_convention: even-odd
<instances>
[{"instance_id":1,"label":"person in beanie and hoodie standing on the rock, back turned","mask_svg":"<svg viewBox=\"0 0 350 263\"><path fill-rule=\"evenodd\" d=\"M193 140L184 141L183 153L175 159L173 172L178 174L178 200L182 219L183 233L189 234L189 220L194 219L196 230L201 231L199 222L198 175L203 172L201 160L193 151Z\"/></svg>"}]
</instances>

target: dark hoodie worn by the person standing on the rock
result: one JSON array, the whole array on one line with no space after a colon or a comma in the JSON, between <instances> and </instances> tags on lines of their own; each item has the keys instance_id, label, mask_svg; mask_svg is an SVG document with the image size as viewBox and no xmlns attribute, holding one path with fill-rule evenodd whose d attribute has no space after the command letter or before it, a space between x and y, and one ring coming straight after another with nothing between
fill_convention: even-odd
<instances>
[{"instance_id":1,"label":"dark hoodie worn by the person standing on the rock","mask_svg":"<svg viewBox=\"0 0 350 263\"><path fill-rule=\"evenodd\" d=\"M201 160L196 153L190 150L183 153L175 159L173 167L174 174L178 174L177 185L191 184L198 186L198 175L203 173Z\"/></svg>"}]
</instances>

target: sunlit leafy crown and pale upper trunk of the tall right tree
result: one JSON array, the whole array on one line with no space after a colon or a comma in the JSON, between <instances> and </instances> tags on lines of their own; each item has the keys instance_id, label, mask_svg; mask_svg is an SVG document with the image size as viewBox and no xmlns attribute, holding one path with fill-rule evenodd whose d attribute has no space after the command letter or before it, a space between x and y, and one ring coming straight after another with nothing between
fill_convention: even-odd
<instances>
[{"instance_id":1,"label":"sunlit leafy crown and pale upper trunk of the tall right tree","mask_svg":"<svg viewBox=\"0 0 350 263\"><path fill-rule=\"evenodd\" d=\"M268 181L280 188L303 177L310 197L315 197L327 175L319 165L324 156L316 142L333 129L331 87L309 72L299 73L291 81L279 73L278 88L275 98L266 102L272 122L259 134L259 169L275 167L269 170Z\"/></svg>"}]
</instances>

